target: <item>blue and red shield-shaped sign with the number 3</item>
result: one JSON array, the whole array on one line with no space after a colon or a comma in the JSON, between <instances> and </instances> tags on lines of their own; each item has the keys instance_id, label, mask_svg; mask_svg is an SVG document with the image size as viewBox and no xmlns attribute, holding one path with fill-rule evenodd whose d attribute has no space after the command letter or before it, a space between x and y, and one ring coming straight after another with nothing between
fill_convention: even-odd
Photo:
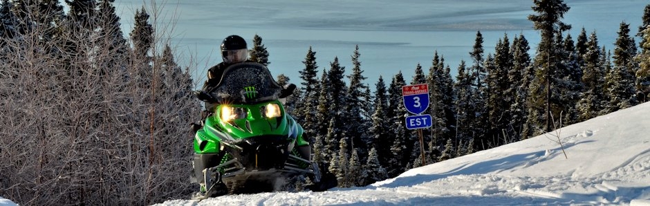
<instances>
[{"instance_id":1,"label":"blue and red shield-shaped sign with the number 3","mask_svg":"<svg viewBox=\"0 0 650 206\"><path fill-rule=\"evenodd\" d=\"M402 97L407 111L419 115L429 108L429 84L402 86Z\"/></svg>"}]
</instances>

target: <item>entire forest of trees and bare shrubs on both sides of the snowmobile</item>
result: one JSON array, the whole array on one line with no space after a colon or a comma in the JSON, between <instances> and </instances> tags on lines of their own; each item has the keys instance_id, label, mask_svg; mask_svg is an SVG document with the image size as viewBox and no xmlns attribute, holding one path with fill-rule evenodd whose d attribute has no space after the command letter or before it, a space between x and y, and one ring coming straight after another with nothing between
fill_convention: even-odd
<instances>
[{"instance_id":1,"label":"entire forest of trees and bare shrubs on both sides of the snowmobile","mask_svg":"<svg viewBox=\"0 0 650 206\"><path fill-rule=\"evenodd\" d=\"M176 63L165 28L156 27L155 8L136 10L124 34L112 0L65 3L67 12L56 0L1 1L0 195L21 205L188 198L198 190L189 181L189 124L203 104L190 68ZM563 1L534 0L531 8L541 35L535 55L523 35L504 35L485 51L477 31L472 62L454 66L456 77L435 51L410 80L401 72L370 80L358 46L349 72L338 58L319 67L317 51L306 48L299 89L285 106L314 160L328 165L338 187L364 186L647 102L650 4L639 11L643 25L620 24L613 50L595 31L568 35ZM252 43L249 59L270 64L262 38ZM409 84L429 84L425 162L417 132L405 127Z\"/></svg>"}]
</instances>

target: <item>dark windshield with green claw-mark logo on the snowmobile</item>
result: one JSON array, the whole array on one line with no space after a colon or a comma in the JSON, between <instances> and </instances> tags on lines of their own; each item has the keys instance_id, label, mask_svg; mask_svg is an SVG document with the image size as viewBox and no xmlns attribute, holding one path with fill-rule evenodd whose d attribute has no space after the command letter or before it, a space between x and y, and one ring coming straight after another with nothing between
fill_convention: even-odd
<instances>
[{"instance_id":1,"label":"dark windshield with green claw-mark logo on the snowmobile","mask_svg":"<svg viewBox=\"0 0 650 206\"><path fill-rule=\"evenodd\" d=\"M281 91L266 66L241 62L225 68L221 82L209 92L220 104L252 104L277 100Z\"/></svg>"}]
</instances>

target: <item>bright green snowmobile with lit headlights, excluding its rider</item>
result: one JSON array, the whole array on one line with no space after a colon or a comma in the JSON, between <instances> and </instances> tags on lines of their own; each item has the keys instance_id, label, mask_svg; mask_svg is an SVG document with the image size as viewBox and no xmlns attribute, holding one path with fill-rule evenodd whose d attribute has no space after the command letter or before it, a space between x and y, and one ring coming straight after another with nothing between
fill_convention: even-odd
<instances>
[{"instance_id":1,"label":"bright green snowmobile with lit headlights, excluding its rider","mask_svg":"<svg viewBox=\"0 0 650 206\"><path fill-rule=\"evenodd\" d=\"M193 198L277 191L299 176L309 178L304 187L312 191L336 187L335 176L311 161L302 127L284 109L281 99L294 89L279 86L263 64L241 62L225 68L210 91L198 93L216 106L194 137L201 191Z\"/></svg>"}]
</instances>

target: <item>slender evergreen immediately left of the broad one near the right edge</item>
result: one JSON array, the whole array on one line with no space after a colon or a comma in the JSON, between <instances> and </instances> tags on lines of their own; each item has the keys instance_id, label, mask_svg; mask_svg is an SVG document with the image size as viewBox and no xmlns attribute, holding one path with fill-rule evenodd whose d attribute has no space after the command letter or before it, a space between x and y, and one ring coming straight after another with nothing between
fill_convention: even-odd
<instances>
[{"instance_id":1,"label":"slender evergreen immediately left of the broad one near the right edge","mask_svg":"<svg viewBox=\"0 0 650 206\"><path fill-rule=\"evenodd\" d=\"M583 68L582 83L585 86L585 92L577 105L580 121L600 115L603 101L604 68L600 65L602 54L595 32L591 33L588 45L587 53L583 57L585 67Z\"/></svg>"}]
</instances>

